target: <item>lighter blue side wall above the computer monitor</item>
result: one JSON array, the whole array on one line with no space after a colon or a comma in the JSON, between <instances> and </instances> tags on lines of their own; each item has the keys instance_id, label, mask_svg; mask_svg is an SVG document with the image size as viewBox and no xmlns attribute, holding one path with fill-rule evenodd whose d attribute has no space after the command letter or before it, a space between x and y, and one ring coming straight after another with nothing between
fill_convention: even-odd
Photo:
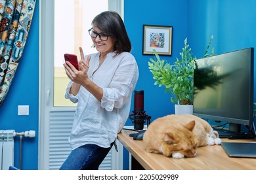
<instances>
[{"instance_id":1,"label":"lighter blue side wall above the computer monitor","mask_svg":"<svg viewBox=\"0 0 256 183\"><path fill-rule=\"evenodd\" d=\"M253 0L188 1L188 37L196 54L214 35L215 54L256 45L256 2Z\"/></svg>"}]
</instances>

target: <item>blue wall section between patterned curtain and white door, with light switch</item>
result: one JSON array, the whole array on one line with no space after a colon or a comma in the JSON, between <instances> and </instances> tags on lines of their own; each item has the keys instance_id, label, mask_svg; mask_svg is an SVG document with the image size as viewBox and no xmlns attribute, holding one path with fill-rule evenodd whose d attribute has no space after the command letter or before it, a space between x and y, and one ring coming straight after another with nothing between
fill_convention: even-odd
<instances>
[{"instance_id":1,"label":"blue wall section between patterned curtain and white door, with light switch","mask_svg":"<svg viewBox=\"0 0 256 183\"><path fill-rule=\"evenodd\" d=\"M18 116L18 105L29 105L30 115ZM39 1L28 39L7 97L0 107L0 129L35 130L35 138L22 141L22 169L38 167L39 125ZM15 137L14 166L19 167L20 138Z\"/></svg>"}]
</instances>

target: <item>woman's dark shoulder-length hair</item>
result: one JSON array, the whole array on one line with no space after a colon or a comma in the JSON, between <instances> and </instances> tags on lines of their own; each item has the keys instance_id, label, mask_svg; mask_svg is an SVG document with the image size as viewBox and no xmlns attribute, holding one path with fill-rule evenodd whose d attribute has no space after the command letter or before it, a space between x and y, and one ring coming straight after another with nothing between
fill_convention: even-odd
<instances>
[{"instance_id":1,"label":"woman's dark shoulder-length hair","mask_svg":"<svg viewBox=\"0 0 256 183\"><path fill-rule=\"evenodd\" d=\"M116 54L121 52L131 52L131 41L127 35L123 20L114 11L104 11L98 14L92 22L98 29L116 39L114 51Z\"/></svg>"}]
</instances>

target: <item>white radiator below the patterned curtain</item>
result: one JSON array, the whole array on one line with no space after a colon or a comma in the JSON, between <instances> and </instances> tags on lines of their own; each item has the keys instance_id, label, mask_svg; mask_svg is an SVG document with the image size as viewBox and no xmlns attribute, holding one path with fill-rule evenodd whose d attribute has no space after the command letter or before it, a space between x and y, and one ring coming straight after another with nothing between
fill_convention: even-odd
<instances>
[{"instance_id":1,"label":"white radiator below the patterned curtain","mask_svg":"<svg viewBox=\"0 0 256 183\"><path fill-rule=\"evenodd\" d=\"M14 165L14 130L0 130L0 170Z\"/></svg>"}]
</instances>

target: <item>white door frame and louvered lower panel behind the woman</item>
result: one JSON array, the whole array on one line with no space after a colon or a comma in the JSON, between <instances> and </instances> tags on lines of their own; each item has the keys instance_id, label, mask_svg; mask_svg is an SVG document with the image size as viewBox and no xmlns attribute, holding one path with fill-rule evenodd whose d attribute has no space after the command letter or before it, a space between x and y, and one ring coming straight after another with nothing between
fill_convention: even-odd
<instances>
[{"instance_id":1,"label":"white door frame and louvered lower panel behind the woman","mask_svg":"<svg viewBox=\"0 0 256 183\"><path fill-rule=\"evenodd\" d=\"M56 52L58 52L58 49L56 49L56 42L58 42L56 41L56 39L58 36L54 37L54 31L58 30L58 26L54 24L54 11L57 6L60 6L60 3L62 3L61 5L65 4L66 6L71 6L74 5L74 3L82 3L81 1L83 0L65 1L68 1L68 3L64 3L64 0L39 1L41 9L39 71L39 169L58 169L70 153L68 136L70 135L70 130L72 127L75 107L72 105L56 105L55 101L58 97L63 97L64 99L64 95L62 95L62 93L61 95L58 93L58 87L54 88L54 86L59 83L56 83L56 75L58 75L58 73L56 74L56 70L58 68L56 67L56 63L54 63L54 60L56 61L56 55L59 55L56 54ZM83 3L85 2L88 1L83 1ZM95 1L93 2L95 3ZM87 9L95 9L95 7L97 7L97 4L95 4L94 7L87 7ZM108 9L116 10L117 12L119 12L119 14L122 15L123 0L109 1ZM56 14L56 16L64 16L67 13L68 12L63 11ZM72 22L67 21L66 23L67 29L72 26ZM75 24L77 24L77 22L75 22ZM58 31L58 35L61 34L62 31ZM85 33L81 33L81 35L83 34ZM65 39L65 36L67 35L62 35L63 39ZM60 90L59 92L64 91ZM119 152L116 152L116 150L112 148L108 156L100 165L100 169L123 168L123 148L121 144L118 144L118 146Z\"/></svg>"}]
</instances>

